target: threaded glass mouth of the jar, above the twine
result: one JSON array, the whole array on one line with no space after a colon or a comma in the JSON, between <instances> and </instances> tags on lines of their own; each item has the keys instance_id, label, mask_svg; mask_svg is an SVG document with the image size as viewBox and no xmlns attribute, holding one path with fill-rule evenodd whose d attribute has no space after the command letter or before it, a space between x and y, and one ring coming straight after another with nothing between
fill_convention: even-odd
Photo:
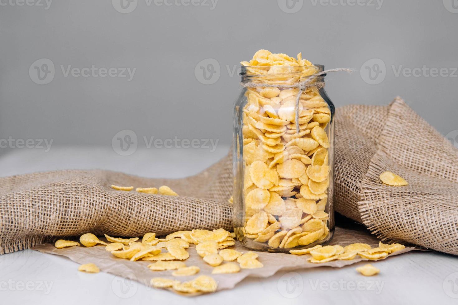
<instances>
[{"instance_id":1,"label":"threaded glass mouth of the jar, above the twine","mask_svg":"<svg viewBox=\"0 0 458 305\"><path fill-rule=\"evenodd\" d=\"M322 71L324 71L322 64L310 66L242 66L239 75L242 78L242 83L290 84L306 80ZM317 77L317 80L324 76L326 75Z\"/></svg>"}]
</instances>

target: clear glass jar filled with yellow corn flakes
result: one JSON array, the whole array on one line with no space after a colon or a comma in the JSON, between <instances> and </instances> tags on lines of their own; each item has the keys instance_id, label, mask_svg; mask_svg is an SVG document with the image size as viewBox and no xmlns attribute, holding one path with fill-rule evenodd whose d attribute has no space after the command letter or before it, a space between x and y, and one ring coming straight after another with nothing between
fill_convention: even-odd
<instances>
[{"instance_id":1,"label":"clear glass jar filled with yellow corn flakes","mask_svg":"<svg viewBox=\"0 0 458 305\"><path fill-rule=\"evenodd\" d=\"M325 75L315 75L323 70L242 66L244 89L234 109L233 222L238 240L252 250L288 252L333 236L335 110Z\"/></svg>"}]
</instances>

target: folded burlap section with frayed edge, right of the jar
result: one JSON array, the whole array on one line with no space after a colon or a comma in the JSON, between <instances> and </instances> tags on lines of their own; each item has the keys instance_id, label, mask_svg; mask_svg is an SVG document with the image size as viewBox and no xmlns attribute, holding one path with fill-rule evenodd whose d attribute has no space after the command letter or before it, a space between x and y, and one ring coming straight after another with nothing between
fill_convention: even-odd
<instances>
[{"instance_id":1,"label":"folded burlap section with frayed edge, right of the jar","mask_svg":"<svg viewBox=\"0 0 458 305\"><path fill-rule=\"evenodd\" d=\"M336 211L382 240L458 255L458 150L399 97L337 113ZM384 185L384 171L409 185Z\"/></svg>"}]
</instances>

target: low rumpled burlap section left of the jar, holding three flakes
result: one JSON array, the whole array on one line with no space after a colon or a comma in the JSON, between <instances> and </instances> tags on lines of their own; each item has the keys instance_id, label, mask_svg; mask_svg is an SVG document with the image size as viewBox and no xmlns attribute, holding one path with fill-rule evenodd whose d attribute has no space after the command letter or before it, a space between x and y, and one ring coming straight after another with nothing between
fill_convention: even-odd
<instances>
[{"instance_id":1,"label":"low rumpled burlap section left of the jar, holding three flakes","mask_svg":"<svg viewBox=\"0 0 458 305\"><path fill-rule=\"evenodd\" d=\"M168 185L180 196L116 191L110 186ZM113 171L51 171L0 178L0 254L54 236L165 235L232 228L232 156L183 179L148 179Z\"/></svg>"}]
</instances>

